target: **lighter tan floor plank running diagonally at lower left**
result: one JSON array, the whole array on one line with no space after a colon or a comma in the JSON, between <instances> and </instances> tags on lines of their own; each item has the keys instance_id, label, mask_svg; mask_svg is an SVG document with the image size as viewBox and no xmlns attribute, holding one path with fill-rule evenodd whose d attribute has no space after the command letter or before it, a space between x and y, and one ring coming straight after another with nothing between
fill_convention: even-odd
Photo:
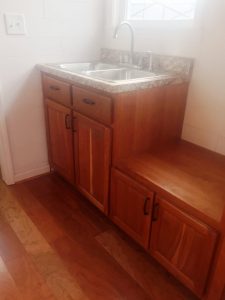
<instances>
[{"instance_id":1,"label":"lighter tan floor plank running diagonally at lower left","mask_svg":"<svg viewBox=\"0 0 225 300\"><path fill-rule=\"evenodd\" d=\"M0 188L4 193L0 201L1 214L14 230L56 299L87 299L76 280L68 273L59 256L25 214L12 193L2 183Z\"/></svg>"}]
</instances>

